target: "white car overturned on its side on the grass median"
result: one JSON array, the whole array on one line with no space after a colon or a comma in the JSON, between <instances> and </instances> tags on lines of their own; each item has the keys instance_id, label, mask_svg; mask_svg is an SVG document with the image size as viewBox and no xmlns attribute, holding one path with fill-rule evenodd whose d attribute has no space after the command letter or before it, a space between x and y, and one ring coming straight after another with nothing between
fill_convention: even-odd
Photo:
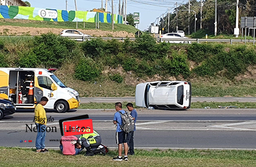
<instances>
[{"instance_id":1,"label":"white car overturned on its side on the grass median","mask_svg":"<svg viewBox=\"0 0 256 167\"><path fill-rule=\"evenodd\" d=\"M191 83L187 81L154 81L136 86L135 103L139 107L188 109L191 105Z\"/></svg>"}]
</instances>

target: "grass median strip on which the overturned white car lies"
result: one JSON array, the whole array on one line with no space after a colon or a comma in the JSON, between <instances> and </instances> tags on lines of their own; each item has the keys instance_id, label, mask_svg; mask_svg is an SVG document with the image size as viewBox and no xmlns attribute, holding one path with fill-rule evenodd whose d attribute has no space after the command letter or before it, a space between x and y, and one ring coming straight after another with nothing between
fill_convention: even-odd
<instances>
[{"instance_id":1,"label":"grass median strip on which the overturned white car lies","mask_svg":"<svg viewBox=\"0 0 256 167\"><path fill-rule=\"evenodd\" d=\"M125 108L126 103L122 102L123 108ZM133 103L134 108L139 108ZM79 109L114 109L115 103L81 103ZM191 103L191 108L220 108L229 107L230 108L256 108L256 103L253 102L193 102Z\"/></svg>"}]
</instances>

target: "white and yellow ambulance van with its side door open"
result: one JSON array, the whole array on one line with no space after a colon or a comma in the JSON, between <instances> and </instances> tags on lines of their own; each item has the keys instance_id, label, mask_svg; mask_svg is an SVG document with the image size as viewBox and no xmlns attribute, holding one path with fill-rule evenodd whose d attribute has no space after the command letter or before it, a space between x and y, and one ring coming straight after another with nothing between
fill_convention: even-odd
<instances>
[{"instance_id":1,"label":"white and yellow ambulance van with its side door open","mask_svg":"<svg viewBox=\"0 0 256 167\"><path fill-rule=\"evenodd\" d=\"M13 101L16 108L35 108L42 97L49 99L44 108L58 112L79 107L79 93L65 86L55 70L0 68L0 97Z\"/></svg>"}]
</instances>

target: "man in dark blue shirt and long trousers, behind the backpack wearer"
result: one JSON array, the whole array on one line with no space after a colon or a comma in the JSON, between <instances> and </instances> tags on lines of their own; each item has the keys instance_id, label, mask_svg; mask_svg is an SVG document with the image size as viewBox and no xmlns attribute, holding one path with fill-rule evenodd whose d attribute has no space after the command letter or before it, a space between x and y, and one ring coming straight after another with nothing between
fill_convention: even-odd
<instances>
[{"instance_id":1,"label":"man in dark blue shirt and long trousers, behind the backpack wearer","mask_svg":"<svg viewBox=\"0 0 256 167\"><path fill-rule=\"evenodd\" d=\"M129 111L131 111L130 115L133 116L134 118L134 130L131 131L128 136L127 136L127 144L128 144L128 147L129 147L129 155L134 155L134 131L136 131L136 120L137 120L137 116L138 116L138 113L137 111L133 108L133 103L127 103L126 105L127 109Z\"/></svg>"}]
</instances>

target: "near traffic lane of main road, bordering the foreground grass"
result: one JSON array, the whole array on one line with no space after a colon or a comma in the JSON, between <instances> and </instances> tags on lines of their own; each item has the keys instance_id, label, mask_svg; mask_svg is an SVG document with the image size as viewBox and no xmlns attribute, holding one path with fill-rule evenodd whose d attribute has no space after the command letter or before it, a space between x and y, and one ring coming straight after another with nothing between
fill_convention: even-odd
<instances>
[{"instance_id":1,"label":"near traffic lane of main road, bordering the foreground grass","mask_svg":"<svg viewBox=\"0 0 256 167\"><path fill-rule=\"evenodd\" d=\"M102 137L102 144L117 148L115 130L97 132ZM0 131L0 136L3 147L35 147L36 132ZM60 137L59 132L48 132L46 148L58 148ZM255 137L255 133L250 131L137 130L134 143L135 148L256 149ZM20 143L20 140L23 142Z\"/></svg>"}]
</instances>

